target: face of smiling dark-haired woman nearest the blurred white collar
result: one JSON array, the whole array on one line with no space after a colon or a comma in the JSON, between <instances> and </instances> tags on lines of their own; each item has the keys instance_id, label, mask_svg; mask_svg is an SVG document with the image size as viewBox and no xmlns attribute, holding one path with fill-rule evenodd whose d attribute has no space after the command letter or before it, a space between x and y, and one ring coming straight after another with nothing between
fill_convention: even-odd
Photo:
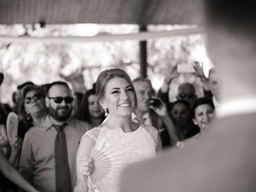
<instances>
[{"instance_id":1,"label":"face of smiling dark-haired woman nearest the blurred white collar","mask_svg":"<svg viewBox=\"0 0 256 192\"><path fill-rule=\"evenodd\" d=\"M213 108L209 104L197 106L195 110L194 123L198 125L200 130L207 129L213 118Z\"/></svg>"}]
</instances>

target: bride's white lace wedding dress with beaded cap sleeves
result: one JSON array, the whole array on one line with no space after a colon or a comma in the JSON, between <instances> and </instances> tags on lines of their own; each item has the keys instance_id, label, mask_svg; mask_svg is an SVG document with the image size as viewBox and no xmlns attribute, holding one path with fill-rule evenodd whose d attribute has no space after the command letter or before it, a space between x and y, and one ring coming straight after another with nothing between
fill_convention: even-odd
<instances>
[{"instance_id":1,"label":"bride's white lace wedding dress with beaded cap sleeves","mask_svg":"<svg viewBox=\"0 0 256 192\"><path fill-rule=\"evenodd\" d=\"M134 132L125 133L121 128L110 129L107 127L93 128L84 135L88 135L96 141L95 148L108 148L115 156L115 166L102 180L94 183L100 192L119 192L120 176L124 168L136 161L156 156L158 144L158 131L150 125L141 124ZM89 192L93 191L88 180Z\"/></svg>"}]
</instances>

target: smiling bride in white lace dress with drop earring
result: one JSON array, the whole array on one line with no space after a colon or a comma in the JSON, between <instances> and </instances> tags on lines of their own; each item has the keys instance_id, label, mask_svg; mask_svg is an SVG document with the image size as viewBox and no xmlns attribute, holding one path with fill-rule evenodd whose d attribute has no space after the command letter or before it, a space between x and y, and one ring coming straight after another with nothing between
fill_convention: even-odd
<instances>
[{"instance_id":1,"label":"smiling bride in white lace dress with drop earring","mask_svg":"<svg viewBox=\"0 0 256 192\"><path fill-rule=\"evenodd\" d=\"M162 149L156 128L132 121L137 98L126 72L121 69L101 72L96 80L96 95L109 118L82 137L76 157L78 181L74 192L118 192L120 175L128 164L154 157L156 150ZM114 158L109 173L94 179L97 166L91 152L99 146L107 148L106 154Z\"/></svg>"}]
</instances>

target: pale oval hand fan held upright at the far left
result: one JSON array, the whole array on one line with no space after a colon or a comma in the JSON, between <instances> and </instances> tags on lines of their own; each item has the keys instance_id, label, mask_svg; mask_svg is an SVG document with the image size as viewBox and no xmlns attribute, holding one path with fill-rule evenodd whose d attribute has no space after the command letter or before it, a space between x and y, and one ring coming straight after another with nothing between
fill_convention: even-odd
<instances>
[{"instance_id":1,"label":"pale oval hand fan held upright at the far left","mask_svg":"<svg viewBox=\"0 0 256 192\"><path fill-rule=\"evenodd\" d=\"M14 140L15 136L18 134L18 115L14 112L10 112L6 121L6 130L9 142L11 143Z\"/></svg>"}]
</instances>

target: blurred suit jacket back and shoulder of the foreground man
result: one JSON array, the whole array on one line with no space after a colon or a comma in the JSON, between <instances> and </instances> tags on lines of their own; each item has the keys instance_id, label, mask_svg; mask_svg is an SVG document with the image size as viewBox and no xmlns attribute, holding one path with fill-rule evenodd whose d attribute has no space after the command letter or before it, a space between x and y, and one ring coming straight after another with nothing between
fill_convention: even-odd
<instances>
[{"instance_id":1,"label":"blurred suit jacket back and shoulder of the foreground man","mask_svg":"<svg viewBox=\"0 0 256 192\"><path fill-rule=\"evenodd\" d=\"M254 192L255 146L256 113L218 119L195 144L126 169L121 192Z\"/></svg>"}]
</instances>

